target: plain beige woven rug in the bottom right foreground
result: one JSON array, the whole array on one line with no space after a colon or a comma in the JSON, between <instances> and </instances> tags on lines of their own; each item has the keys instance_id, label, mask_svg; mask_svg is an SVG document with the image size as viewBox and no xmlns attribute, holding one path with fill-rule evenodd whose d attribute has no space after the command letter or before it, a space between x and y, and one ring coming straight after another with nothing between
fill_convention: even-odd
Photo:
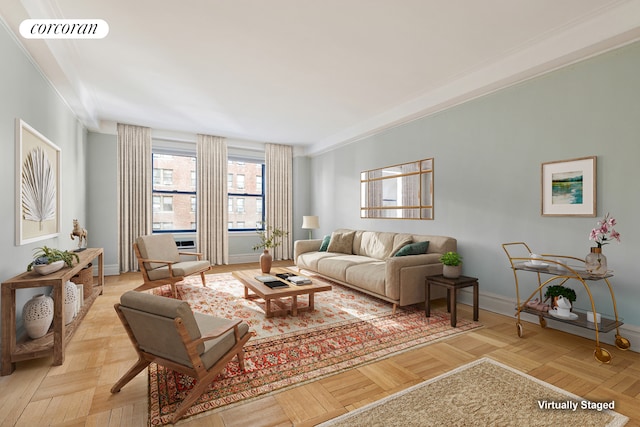
<instances>
[{"instance_id":1,"label":"plain beige woven rug in the bottom right foreground","mask_svg":"<svg viewBox=\"0 0 640 427\"><path fill-rule=\"evenodd\" d=\"M319 427L622 426L610 402L590 402L483 358ZM614 405L615 406L615 405Z\"/></svg>"}]
</instances>

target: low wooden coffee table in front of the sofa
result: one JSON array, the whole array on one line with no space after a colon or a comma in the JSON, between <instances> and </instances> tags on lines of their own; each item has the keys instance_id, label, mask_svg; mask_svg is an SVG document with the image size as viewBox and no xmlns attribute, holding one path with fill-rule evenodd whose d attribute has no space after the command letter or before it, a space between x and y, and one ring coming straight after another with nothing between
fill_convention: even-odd
<instances>
[{"instance_id":1,"label":"low wooden coffee table in front of the sofa","mask_svg":"<svg viewBox=\"0 0 640 427\"><path fill-rule=\"evenodd\" d=\"M300 276L296 271L287 268L272 268L271 273L268 275L275 277L276 274L280 273L293 273ZM240 270L233 272L233 277L240 280L244 285L244 297L246 299L264 299L267 317L273 317L274 315L286 316L287 314L297 316L298 313L303 311L313 311L315 293L331 290L331 285L320 284L317 281L312 281L309 285L298 286L286 280L281 280L289 286L284 288L270 288L261 281L256 280L256 276L265 276L265 274L260 270ZM249 290L253 291L253 294L250 294ZM298 296L300 295L308 295L309 304L307 307L298 307ZM289 297L291 297L291 301L284 300ZM274 308L274 305L277 308Z\"/></svg>"}]
</instances>

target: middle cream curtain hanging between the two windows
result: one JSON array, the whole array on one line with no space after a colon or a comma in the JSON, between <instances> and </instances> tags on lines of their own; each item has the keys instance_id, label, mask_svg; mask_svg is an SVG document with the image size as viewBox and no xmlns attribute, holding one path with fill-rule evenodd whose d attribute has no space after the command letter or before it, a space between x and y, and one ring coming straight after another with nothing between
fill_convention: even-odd
<instances>
[{"instance_id":1,"label":"middle cream curtain hanging between the two windows","mask_svg":"<svg viewBox=\"0 0 640 427\"><path fill-rule=\"evenodd\" d=\"M229 264L227 142L198 135L198 251L211 264Z\"/></svg>"}]
</instances>

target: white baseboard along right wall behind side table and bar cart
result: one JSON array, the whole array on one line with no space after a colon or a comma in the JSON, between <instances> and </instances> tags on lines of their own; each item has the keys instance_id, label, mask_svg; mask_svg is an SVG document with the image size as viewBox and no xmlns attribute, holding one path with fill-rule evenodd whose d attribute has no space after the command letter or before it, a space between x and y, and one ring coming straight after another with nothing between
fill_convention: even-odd
<instances>
[{"instance_id":1,"label":"white baseboard along right wall behind side table and bar cart","mask_svg":"<svg viewBox=\"0 0 640 427\"><path fill-rule=\"evenodd\" d=\"M458 294L458 302L467 305L473 305L473 291L471 289L461 289ZM483 310L491 311L493 313L502 314L504 316L513 317L513 334L516 335L516 301L515 298L507 298L503 295L496 295L489 292L480 292L479 305ZM531 325L524 325L525 336L526 329L528 328L540 328L538 316L529 313L522 313L520 319L525 322L532 323ZM480 318L482 322L482 317ZM590 329L580 328L578 326L569 325L563 322L557 322L553 319L548 319L547 328L557 329L559 331L568 332L573 335L578 335L583 338L595 340L594 331ZM615 329L608 333L600 333L600 341L606 344L615 346ZM631 341L631 351L640 352L640 327L635 325L622 325L620 326L620 335ZM614 354L615 356L615 354Z\"/></svg>"}]
</instances>

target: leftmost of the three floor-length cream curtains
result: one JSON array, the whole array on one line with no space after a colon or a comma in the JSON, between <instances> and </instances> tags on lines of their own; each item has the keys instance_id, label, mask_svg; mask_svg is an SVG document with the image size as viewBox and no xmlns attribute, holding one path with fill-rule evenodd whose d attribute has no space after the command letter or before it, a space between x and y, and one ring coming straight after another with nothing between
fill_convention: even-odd
<instances>
[{"instance_id":1,"label":"leftmost of the three floor-length cream curtains","mask_svg":"<svg viewBox=\"0 0 640 427\"><path fill-rule=\"evenodd\" d=\"M136 271L133 242L151 233L151 129L118 123L118 262Z\"/></svg>"}]
</instances>

